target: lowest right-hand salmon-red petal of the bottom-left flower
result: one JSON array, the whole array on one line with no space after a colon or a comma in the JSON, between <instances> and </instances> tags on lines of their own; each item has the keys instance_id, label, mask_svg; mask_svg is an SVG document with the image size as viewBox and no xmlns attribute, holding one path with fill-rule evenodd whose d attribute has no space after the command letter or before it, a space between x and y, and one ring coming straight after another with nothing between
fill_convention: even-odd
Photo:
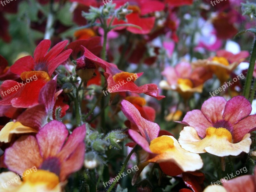
<instances>
[{"instance_id":1,"label":"lowest right-hand salmon-red petal of the bottom-left flower","mask_svg":"<svg viewBox=\"0 0 256 192\"><path fill-rule=\"evenodd\" d=\"M80 143L69 158L61 164L60 181L65 181L70 173L76 172L84 164L85 144Z\"/></svg>"}]
</instances>

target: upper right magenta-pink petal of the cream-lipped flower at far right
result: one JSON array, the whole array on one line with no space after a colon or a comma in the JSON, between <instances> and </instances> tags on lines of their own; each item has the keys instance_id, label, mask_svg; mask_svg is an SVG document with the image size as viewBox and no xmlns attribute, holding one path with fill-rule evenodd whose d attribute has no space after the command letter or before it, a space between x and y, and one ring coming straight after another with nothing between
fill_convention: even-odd
<instances>
[{"instance_id":1,"label":"upper right magenta-pink petal of the cream-lipped flower at far right","mask_svg":"<svg viewBox=\"0 0 256 192\"><path fill-rule=\"evenodd\" d=\"M236 96L227 102L223 117L231 124L236 124L244 117L250 115L251 111L251 103L244 96Z\"/></svg>"}]
</instances>

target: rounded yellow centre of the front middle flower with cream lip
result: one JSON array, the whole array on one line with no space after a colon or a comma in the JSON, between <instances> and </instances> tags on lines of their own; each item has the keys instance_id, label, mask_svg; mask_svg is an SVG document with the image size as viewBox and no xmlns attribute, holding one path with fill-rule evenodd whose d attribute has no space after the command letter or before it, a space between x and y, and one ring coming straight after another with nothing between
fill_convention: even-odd
<instances>
[{"instance_id":1,"label":"rounded yellow centre of the front middle flower with cream lip","mask_svg":"<svg viewBox=\"0 0 256 192\"><path fill-rule=\"evenodd\" d=\"M171 150L173 148L173 143L174 141L172 140L172 138L163 135L161 137L153 139L150 142L149 148L153 153L161 154L165 151Z\"/></svg>"}]
</instances>

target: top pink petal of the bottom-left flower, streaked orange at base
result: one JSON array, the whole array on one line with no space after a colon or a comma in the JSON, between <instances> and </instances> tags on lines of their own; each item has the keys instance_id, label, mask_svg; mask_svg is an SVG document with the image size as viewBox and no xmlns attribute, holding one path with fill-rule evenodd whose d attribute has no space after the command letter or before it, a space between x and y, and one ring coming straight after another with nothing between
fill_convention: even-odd
<instances>
[{"instance_id":1,"label":"top pink petal of the bottom-left flower, streaked orange at base","mask_svg":"<svg viewBox=\"0 0 256 192\"><path fill-rule=\"evenodd\" d=\"M36 134L40 152L44 159L56 156L60 152L67 136L68 130L66 126L59 121L53 120L44 125Z\"/></svg>"}]
</instances>

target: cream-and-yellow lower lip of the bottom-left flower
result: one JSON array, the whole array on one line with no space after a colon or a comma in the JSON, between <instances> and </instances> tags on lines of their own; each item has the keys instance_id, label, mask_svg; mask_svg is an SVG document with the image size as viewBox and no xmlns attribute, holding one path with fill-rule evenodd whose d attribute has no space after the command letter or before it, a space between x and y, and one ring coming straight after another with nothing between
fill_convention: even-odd
<instances>
[{"instance_id":1,"label":"cream-and-yellow lower lip of the bottom-left flower","mask_svg":"<svg viewBox=\"0 0 256 192\"><path fill-rule=\"evenodd\" d=\"M26 175L26 172L23 175ZM15 180L15 182L6 185L10 180ZM61 192L59 177L55 173L46 170L30 172L22 178L22 181L14 172L3 172L0 173L0 181L2 192Z\"/></svg>"}]
</instances>

